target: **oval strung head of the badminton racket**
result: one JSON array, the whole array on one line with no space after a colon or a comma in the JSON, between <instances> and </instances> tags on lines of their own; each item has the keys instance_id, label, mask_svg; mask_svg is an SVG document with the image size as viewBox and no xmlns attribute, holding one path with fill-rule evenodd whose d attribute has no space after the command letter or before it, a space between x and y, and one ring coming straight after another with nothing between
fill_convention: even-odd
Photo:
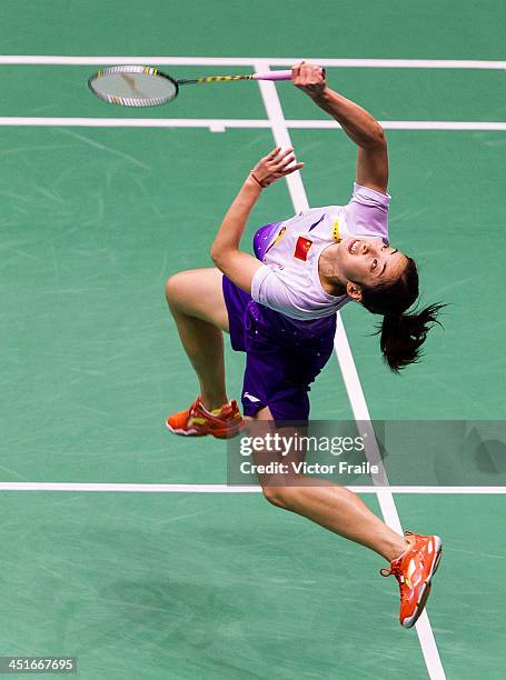
<instances>
[{"instance_id":1,"label":"oval strung head of the badminton racket","mask_svg":"<svg viewBox=\"0 0 506 680\"><path fill-rule=\"evenodd\" d=\"M179 86L158 69L117 66L97 71L88 79L96 97L119 107L159 107L175 99Z\"/></svg>"}]
</instances>

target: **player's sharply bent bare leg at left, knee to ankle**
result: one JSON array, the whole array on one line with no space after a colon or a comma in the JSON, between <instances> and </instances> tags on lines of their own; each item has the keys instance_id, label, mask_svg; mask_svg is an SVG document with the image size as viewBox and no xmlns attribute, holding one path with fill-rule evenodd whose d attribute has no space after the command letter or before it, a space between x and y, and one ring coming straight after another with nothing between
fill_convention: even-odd
<instances>
[{"instance_id":1,"label":"player's sharply bent bare leg at left, knee to ankle","mask_svg":"<svg viewBox=\"0 0 506 680\"><path fill-rule=\"evenodd\" d=\"M166 284L170 311L208 410L228 401L222 337L222 331L228 332L228 314L221 279L216 268L194 269L170 277Z\"/></svg>"}]
</instances>

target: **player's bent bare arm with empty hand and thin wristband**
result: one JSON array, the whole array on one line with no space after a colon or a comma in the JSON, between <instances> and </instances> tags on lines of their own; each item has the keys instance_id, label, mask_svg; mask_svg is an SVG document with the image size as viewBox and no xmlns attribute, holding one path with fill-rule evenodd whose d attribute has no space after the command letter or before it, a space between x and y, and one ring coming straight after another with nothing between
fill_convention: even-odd
<instances>
[{"instance_id":1,"label":"player's bent bare arm with empty hand and thin wristband","mask_svg":"<svg viewBox=\"0 0 506 680\"><path fill-rule=\"evenodd\" d=\"M239 250L246 222L261 190L296 170L304 163L295 163L292 149L278 147L260 159L247 177L239 193L221 222L211 247L211 259L226 277L246 292L251 292L251 280L262 263Z\"/></svg>"}]
</instances>

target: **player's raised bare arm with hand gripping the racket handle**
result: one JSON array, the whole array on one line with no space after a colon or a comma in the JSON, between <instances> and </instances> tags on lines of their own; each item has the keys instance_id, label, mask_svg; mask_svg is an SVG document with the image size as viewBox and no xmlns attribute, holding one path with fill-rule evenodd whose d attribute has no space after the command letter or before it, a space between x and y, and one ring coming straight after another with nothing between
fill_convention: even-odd
<instances>
[{"instance_id":1,"label":"player's raised bare arm with hand gripping the racket handle","mask_svg":"<svg viewBox=\"0 0 506 680\"><path fill-rule=\"evenodd\" d=\"M294 84L337 120L346 134L358 144L357 183L386 193L387 141L378 121L368 111L328 88L321 67L302 61L291 72Z\"/></svg>"}]
</instances>

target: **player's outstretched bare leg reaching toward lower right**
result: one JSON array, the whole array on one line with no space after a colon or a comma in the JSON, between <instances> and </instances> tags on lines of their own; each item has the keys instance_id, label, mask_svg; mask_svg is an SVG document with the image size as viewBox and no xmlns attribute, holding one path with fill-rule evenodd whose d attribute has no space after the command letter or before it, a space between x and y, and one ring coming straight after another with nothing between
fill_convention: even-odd
<instances>
[{"instance_id":1,"label":"player's outstretched bare leg reaching toward lower right","mask_svg":"<svg viewBox=\"0 0 506 680\"><path fill-rule=\"evenodd\" d=\"M268 408L248 420L270 420ZM300 428L298 428L300 434ZM289 432L284 432L289 436ZM269 453L270 460L272 453ZM261 462L266 462L262 460ZM327 480L302 474L260 477L266 499L285 510L301 514L334 533L375 550L388 561L406 551L406 539L385 524L351 491Z\"/></svg>"}]
</instances>

